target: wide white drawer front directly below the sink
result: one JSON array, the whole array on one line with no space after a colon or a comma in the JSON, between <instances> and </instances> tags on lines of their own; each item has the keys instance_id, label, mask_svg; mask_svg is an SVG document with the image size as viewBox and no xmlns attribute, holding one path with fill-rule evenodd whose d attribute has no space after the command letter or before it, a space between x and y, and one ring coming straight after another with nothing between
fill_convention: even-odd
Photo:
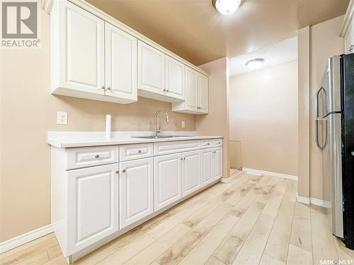
<instances>
[{"instance_id":1,"label":"wide white drawer front directly below the sink","mask_svg":"<svg viewBox=\"0 0 354 265\"><path fill-rule=\"evenodd\" d=\"M185 151L198 150L200 141L173 141L154 143L154 155L167 155L169 153L180 153Z\"/></svg>"}]
</instances>

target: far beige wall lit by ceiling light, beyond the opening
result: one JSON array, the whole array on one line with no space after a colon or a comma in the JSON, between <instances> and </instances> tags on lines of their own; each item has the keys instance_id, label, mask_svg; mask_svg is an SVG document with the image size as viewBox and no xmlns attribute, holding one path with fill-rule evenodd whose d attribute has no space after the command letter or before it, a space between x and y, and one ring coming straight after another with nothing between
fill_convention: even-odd
<instances>
[{"instance_id":1,"label":"far beige wall lit by ceiling light, beyond the opening","mask_svg":"<svg viewBox=\"0 0 354 265\"><path fill-rule=\"evenodd\" d=\"M297 175L297 61L230 78L230 139L243 167Z\"/></svg>"}]
</instances>

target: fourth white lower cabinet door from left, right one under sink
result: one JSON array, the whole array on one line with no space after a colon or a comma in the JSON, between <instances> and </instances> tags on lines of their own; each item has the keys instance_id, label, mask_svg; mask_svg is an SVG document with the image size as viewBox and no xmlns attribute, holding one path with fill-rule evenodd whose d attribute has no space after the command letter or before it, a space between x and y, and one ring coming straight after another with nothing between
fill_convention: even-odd
<instances>
[{"instance_id":1,"label":"fourth white lower cabinet door from left, right one under sink","mask_svg":"<svg viewBox=\"0 0 354 265\"><path fill-rule=\"evenodd\" d=\"M182 153L182 196L200 188L200 151Z\"/></svg>"}]
</instances>

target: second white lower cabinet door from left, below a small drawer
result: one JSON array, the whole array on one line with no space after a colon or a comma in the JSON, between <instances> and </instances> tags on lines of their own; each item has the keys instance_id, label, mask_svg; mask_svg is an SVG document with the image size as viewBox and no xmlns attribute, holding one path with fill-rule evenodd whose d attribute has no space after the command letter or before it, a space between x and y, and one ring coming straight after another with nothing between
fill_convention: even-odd
<instances>
[{"instance_id":1,"label":"second white lower cabinet door from left, below a small drawer","mask_svg":"<svg viewBox=\"0 0 354 265\"><path fill-rule=\"evenodd\" d=\"M120 229L154 212L153 158L120 163Z\"/></svg>"}]
</instances>

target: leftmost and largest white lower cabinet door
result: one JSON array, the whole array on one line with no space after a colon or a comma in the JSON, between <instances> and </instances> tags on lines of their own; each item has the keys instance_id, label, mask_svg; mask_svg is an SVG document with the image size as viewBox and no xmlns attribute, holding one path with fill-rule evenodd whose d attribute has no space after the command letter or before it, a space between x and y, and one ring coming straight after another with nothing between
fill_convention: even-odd
<instances>
[{"instance_id":1,"label":"leftmost and largest white lower cabinet door","mask_svg":"<svg viewBox=\"0 0 354 265\"><path fill-rule=\"evenodd\" d=\"M67 251L118 231L118 164L67 171Z\"/></svg>"}]
</instances>

